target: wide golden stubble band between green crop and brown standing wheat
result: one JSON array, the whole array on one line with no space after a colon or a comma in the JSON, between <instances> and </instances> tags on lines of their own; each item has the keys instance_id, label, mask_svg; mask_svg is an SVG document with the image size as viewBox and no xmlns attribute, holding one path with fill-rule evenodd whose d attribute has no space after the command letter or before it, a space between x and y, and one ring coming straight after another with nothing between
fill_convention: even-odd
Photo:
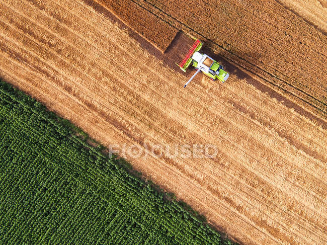
<instances>
[{"instance_id":1,"label":"wide golden stubble band between green crop and brown standing wheat","mask_svg":"<svg viewBox=\"0 0 327 245\"><path fill-rule=\"evenodd\" d=\"M2 1L0 50L4 80L104 145L216 145L215 158L127 159L232 238L327 242L325 121L233 72L183 89L187 77L82 1Z\"/></svg>"}]
</instances>

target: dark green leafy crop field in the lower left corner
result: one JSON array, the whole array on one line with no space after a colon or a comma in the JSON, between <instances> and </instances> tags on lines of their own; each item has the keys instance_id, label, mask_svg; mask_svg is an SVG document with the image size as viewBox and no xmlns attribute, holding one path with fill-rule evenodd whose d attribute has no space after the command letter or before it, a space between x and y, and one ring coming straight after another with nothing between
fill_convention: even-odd
<instances>
[{"instance_id":1,"label":"dark green leafy crop field in the lower left corner","mask_svg":"<svg viewBox=\"0 0 327 245\"><path fill-rule=\"evenodd\" d=\"M0 81L0 244L231 244Z\"/></svg>"}]
</instances>

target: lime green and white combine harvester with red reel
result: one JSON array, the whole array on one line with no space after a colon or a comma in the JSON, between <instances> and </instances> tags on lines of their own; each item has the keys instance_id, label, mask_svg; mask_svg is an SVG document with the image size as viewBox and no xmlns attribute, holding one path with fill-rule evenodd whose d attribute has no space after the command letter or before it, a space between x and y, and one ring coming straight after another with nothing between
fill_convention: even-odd
<instances>
[{"instance_id":1,"label":"lime green and white combine harvester with red reel","mask_svg":"<svg viewBox=\"0 0 327 245\"><path fill-rule=\"evenodd\" d=\"M209 76L211 80L219 79L224 83L227 80L229 74L223 70L222 65L219 64L217 61L210 58L206 54L199 53L198 51L202 47L202 43L198 39L195 40L195 43L193 44L192 48L189 50L185 58L180 64L177 64L184 72L186 72L186 68L190 66L191 62L192 66L197 69L195 74L184 85L184 88L200 71L202 71L202 73L204 73L205 75Z\"/></svg>"}]
</instances>

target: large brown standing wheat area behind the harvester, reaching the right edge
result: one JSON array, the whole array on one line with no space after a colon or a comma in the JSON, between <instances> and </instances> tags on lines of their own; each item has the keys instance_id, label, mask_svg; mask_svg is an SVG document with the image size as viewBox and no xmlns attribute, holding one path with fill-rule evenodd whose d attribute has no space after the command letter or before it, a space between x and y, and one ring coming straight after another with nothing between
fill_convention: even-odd
<instances>
[{"instance_id":1,"label":"large brown standing wheat area behind the harvester, reaching the right edge","mask_svg":"<svg viewBox=\"0 0 327 245\"><path fill-rule=\"evenodd\" d=\"M201 39L213 51L320 117L327 113L327 36L266 1L129 1Z\"/></svg>"}]
</instances>

